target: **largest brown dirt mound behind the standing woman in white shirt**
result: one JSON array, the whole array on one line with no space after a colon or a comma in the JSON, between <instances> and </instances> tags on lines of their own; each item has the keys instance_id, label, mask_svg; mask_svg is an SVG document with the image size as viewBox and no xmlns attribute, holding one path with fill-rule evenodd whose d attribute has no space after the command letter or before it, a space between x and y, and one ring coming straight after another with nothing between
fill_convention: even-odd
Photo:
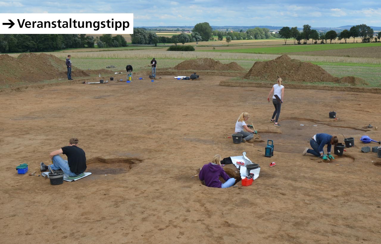
<instances>
[{"instance_id":1,"label":"largest brown dirt mound behind the standing woman in white shirt","mask_svg":"<svg viewBox=\"0 0 381 244\"><path fill-rule=\"evenodd\" d=\"M302 62L282 55L270 61L257 61L244 78L257 77L263 80L277 80L282 77L286 81L337 82L339 78L332 76L319 65Z\"/></svg>"}]
</instances>

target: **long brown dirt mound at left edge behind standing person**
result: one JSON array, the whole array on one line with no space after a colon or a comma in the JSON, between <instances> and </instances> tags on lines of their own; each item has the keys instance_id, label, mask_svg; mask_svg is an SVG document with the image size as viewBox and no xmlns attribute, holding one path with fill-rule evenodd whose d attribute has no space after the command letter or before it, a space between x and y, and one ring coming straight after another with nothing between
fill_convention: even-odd
<instances>
[{"instance_id":1,"label":"long brown dirt mound at left edge behind standing person","mask_svg":"<svg viewBox=\"0 0 381 244\"><path fill-rule=\"evenodd\" d=\"M0 55L0 85L19 82L38 82L57 78L67 79L65 61L45 53L23 53L14 58L8 54ZM72 67L72 77L86 77L97 74L99 70L80 70ZM102 73L113 73L101 70Z\"/></svg>"}]
</instances>

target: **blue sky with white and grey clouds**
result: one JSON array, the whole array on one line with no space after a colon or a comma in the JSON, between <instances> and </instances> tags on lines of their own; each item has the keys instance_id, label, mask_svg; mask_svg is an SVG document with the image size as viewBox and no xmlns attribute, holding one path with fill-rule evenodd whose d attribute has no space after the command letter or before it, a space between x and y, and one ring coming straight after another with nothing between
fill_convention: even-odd
<instances>
[{"instance_id":1,"label":"blue sky with white and grey clouds","mask_svg":"<svg viewBox=\"0 0 381 244\"><path fill-rule=\"evenodd\" d=\"M134 26L381 26L379 0L0 0L0 13L133 13Z\"/></svg>"}]
</instances>

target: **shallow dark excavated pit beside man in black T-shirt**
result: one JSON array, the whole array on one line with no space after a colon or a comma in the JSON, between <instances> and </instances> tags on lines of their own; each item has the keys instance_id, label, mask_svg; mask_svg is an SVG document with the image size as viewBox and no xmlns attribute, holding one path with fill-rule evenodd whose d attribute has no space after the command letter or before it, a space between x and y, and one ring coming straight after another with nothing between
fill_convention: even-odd
<instances>
[{"instance_id":1,"label":"shallow dark excavated pit beside man in black T-shirt","mask_svg":"<svg viewBox=\"0 0 381 244\"><path fill-rule=\"evenodd\" d=\"M87 172L92 174L125 174L134 165L141 163L138 158L91 158L86 160Z\"/></svg>"}]
</instances>

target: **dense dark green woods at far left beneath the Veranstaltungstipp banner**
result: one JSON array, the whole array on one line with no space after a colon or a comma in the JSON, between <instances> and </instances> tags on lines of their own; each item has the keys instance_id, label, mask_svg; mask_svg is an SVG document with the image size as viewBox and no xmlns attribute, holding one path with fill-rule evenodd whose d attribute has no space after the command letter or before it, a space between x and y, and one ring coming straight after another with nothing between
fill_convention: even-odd
<instances>
[{"instance_id":1,"label":"dense dark green woods at far left beneath the Veranstaltungstipp banner","mask_svg":"<svg viewBox=\"0 0 381 244\"><path fill-rule=\"evenodd\" d=\"M0 34L0 53L50 52L66 48L93 48L85 34Z\"/></svg>"}]
</instances>

